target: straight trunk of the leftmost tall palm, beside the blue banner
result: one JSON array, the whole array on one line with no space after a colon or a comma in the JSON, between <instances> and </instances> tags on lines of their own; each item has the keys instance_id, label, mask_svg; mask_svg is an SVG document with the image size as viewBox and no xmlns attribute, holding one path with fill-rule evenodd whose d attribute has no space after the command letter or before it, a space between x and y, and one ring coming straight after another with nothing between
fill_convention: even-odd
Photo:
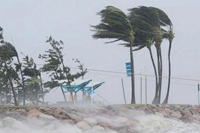
<instances>
[{"instance_id":1,"label":"straight trunk of the leftmost tall palm, beside the blue banner","mask_svg":"<svg viewBox=\"0 0 200 133\"><path fill-rule=\"evenodd\" d=\"M131 62L131 86L132 86L132 96L131 104L135 104L135 73L134 73L134 60L133 60L133 48L130 45L130 62Z\"/></svg>"}]
</instances>

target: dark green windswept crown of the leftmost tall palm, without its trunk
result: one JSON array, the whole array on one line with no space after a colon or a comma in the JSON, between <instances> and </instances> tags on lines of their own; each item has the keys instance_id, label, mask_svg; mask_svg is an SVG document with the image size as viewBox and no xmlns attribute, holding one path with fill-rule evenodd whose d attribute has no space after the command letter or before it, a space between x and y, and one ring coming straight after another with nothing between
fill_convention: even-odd
<instances>
[{"instance_id":1,"label":"dark green windswept crown of the leftmost tall palm, without its trunk","mask_svg":"<svg viewBox=\"0 0 200 133\"><path fill-rule=\"evenodd\" d=\"M91 26L93 28L92 31L95 32L93 38L114 39L114 41L106 43L119 40L129 42L132 25L123 11L113 6L107 6L98 15L101 16L101 23L96 26Z\"/></svg>"}]
</instances>

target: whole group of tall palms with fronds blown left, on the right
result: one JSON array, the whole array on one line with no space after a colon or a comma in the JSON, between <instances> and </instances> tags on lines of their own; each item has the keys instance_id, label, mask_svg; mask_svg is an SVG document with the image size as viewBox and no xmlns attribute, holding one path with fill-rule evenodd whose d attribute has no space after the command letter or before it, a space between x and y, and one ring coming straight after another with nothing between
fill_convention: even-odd
<instances>
[{"instance_id":1,"label":"whole group of tall palms with fronds blown left, on the right","mask_svg":"<svg viewBox=\"0 0 200 133\"><path fill-rule=\"evenodd\" d=\"M106 43L120 41L119 45L123 45L130 49L130 62L132 68L132 104L136 103L133 51L137 51L145 47L149 50L155 73L155 97L152 103L161 103L163 72L161 44L164 39L167 39L169 41L169 78L167 94L163 102L166 104L168 103L170 90L170 52L174 38L172 22L164 11L155 7L140 6L129 9L128 11L129 13L126 15L122 10L114 6L107 6L105 9L101 10L98 13L101 17L101 22L98 25L92 26L92 31L94 31L93 38L112 39L112 41ZM152 46L155 46L156 48L157 67L151 50Z\"/></svg>"}]
</instances>

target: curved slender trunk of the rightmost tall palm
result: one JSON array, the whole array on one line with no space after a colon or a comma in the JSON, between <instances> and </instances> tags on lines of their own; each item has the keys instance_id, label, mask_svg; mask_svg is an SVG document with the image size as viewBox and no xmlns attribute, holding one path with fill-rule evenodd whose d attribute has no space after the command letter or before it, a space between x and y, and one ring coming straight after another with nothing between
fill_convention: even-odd
<instances>
[{"instance_id":1,"label":"curved slender trunk of the rightmost tall palm","mask_svg":"<svg viewBox=\"0 0 200 133\"><path fill-rule=\"evenodd\" d=\"M165 100L163 101L163 104L167 104L168 103L168 98L169 98L169 90L170 90L170 83L171 83L171 47L172 47L172 41L169 41L169 50L168 50L168 69L169 69L169 73L168 73L168 86L167 86L167 94L165 97Z\"/></svg>"}]
</instances>

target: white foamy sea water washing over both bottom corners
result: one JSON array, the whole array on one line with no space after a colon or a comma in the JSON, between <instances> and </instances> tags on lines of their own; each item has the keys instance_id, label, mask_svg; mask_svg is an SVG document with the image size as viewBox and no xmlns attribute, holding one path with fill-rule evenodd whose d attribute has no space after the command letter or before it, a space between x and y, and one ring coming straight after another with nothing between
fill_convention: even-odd
<instances>
[{"instance_id":1,"label":"white foamy sea water washing over both bottom corners","mask_svg":"<svg viewBox=\"0 0 200 133\"><path fill-rule=\"evenodd\" d=\"M127 116L128 117L128 116ZM27 118L28 119L28 118ZM112 119L112 118L111 118ZM200 125L184 123L179 120L164 118L159 115L136 116L134 129L138 133L200 133ZM38 126L40 125L40 126ZM0 133L91 133L83 132L77 126L62 121L54 121L48 125L35 119L26 122L7 118L7 122L0 121ZM95 132L94 132L95 133ZM117 133L117 131L103 131L98 133Z\"/></svg>"}]
</instances>

